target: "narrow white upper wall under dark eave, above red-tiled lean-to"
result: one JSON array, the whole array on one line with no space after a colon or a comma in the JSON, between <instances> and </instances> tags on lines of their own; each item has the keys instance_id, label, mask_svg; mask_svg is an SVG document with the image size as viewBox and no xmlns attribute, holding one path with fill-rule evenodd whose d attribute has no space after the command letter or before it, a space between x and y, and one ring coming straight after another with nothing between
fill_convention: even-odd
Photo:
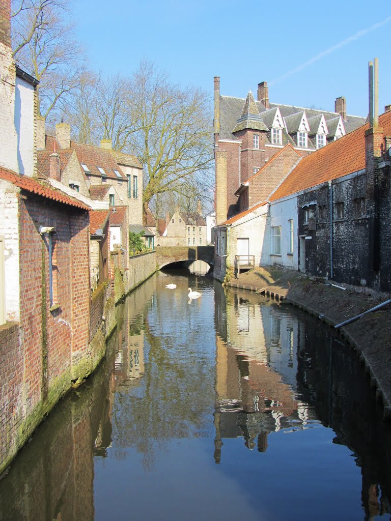
<instances>
[{"instance_id":1,"label":"narrow white upper wall under dark eave, above red-tiled lean-to","mask_svg":"<svg viewBox=\"0 0 391 521\"><path fill-rule=\"evenodd\" d=\"M34 168L34 88L16 78L15 129L18 135L19 173L33 176Z\"/></svg>"}]
</instances>

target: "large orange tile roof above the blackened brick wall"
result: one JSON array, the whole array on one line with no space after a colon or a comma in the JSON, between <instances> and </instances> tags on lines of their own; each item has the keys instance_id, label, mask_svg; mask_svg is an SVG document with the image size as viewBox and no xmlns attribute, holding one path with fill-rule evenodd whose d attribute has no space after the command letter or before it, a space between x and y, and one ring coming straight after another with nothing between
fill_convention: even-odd
<instances>
[{"instance_id":1,"label":"large orange tile roof above the blackened brick wall","mask_svg":"<svg viewBox=\"0 0 391 521\"><path fill-rule=\"evenodd\" d=\"M379 127L391 133L391 112L379 117ZM346 176L365 168L365 130L368 123L343 138L304 157L270 197L276 201L317 184Z\"/></svg>"}]
</instances>

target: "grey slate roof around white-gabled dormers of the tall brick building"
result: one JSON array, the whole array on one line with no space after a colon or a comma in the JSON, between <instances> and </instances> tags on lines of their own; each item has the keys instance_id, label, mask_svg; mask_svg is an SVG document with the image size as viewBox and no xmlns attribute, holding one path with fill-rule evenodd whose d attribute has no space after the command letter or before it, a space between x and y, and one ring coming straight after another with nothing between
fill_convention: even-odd
<instances>
[{"instance_id":1,"label":"grey slate roof around white-gabled dormers of the tall brick building","mask_svg":"<svg viewBox=\"0 0 391 521\"><path fill-rule=\"evenodd\" d=\"M220 134L219 139L226 139L231 141L238 141L238 138L232 133L234 128L237 125L238 119L241 116L243 106L245 105L246 100L243 98L232 97L232 96L220 96ZM328 120L338 117L339 114L335 112L329 112L327 110L319 110L313 108L305 108L305 107L295 107L293 105L283 105L278 103L270 103L269 109L266 109L264 105L259 101L254 101L256 108L259 111L260 118L263 120L263 114L265 113L264 124L267 126L266 121L270 119L270 111L279 107L280 113L282 117L287 117L292 114L302 113L303 110L306 111L307 118L311 118L312 116L317 116L320 114L324 114L327 126ZM365 122L365 118L360 116L347 116L347 120L344 120L345 130L346 132L351 132L356 128L363 125ZM271 125L271 123L270 123Z\"/></svg>"}]
</instances>

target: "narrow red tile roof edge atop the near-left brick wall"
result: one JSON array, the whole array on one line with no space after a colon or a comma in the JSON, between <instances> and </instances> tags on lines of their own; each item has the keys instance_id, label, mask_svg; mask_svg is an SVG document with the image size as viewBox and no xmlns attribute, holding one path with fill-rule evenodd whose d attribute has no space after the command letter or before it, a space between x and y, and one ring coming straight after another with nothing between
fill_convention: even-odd
<instances>
[{"instance_id":1,"label":"narrow red tile roof edge atop the near-left brick wall","mask_svg":"<svg viewBox=\"0 0 391 521\"><path fill-rule=\"evenodd\" d=\"M58 203L63 203L69 206L75 206L76 208L80 208L82 210L90 209L89 206L81 203L77 199L73 199L73 197L70 197L64 192L53 188L51 185L45 184L42 181L38 181L29 176L20 176L19 174L6 168L0 167L0 179L9 181L22 190L26 190L27 192L35 193L37 195L42 195L42 197L46 197L46 199L51 199L52 201L57 201Z\"/></svg>"}]
</instances>

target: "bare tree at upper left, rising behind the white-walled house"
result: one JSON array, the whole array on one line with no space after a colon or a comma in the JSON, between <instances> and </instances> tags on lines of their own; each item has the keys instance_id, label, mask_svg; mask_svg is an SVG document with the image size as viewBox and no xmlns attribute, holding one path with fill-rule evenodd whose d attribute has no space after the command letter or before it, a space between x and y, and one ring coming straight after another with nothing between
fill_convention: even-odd
<instances>
[{"instance_id":1,"label":"bare tree at upper left, rising behind the white-walled house","mask_svg":"<svg viewBox=\"0 0 391 521\"><path fill-rule=\"evenodd\" d=\"M37 80L39 107L47 117L63 108L84 73L74 40L68 0L13 0L13 55Z\"/></svg>"}]
</instances>

